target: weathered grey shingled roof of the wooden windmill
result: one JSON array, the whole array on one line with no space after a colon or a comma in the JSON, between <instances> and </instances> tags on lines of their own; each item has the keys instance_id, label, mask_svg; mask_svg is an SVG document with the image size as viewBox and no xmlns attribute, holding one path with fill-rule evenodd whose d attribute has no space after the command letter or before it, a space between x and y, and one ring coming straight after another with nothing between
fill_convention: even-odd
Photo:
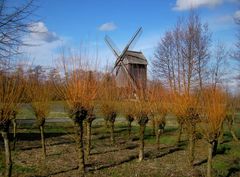
<instances>
[{"instance_id":1,"label":"weathered grey shingled roof of the wooden windmill","mask_svg":"<svg viewBox=\"0 0 240 177\"><path fill-rule=\"evenodd\" d=\"M130 51L128 50L125 54L125 59L123 62L125 64L142 64L142 65L147 65L147 59L143 55L142 52L137 52L137 51Z\"/></svg>"}]
</instances>

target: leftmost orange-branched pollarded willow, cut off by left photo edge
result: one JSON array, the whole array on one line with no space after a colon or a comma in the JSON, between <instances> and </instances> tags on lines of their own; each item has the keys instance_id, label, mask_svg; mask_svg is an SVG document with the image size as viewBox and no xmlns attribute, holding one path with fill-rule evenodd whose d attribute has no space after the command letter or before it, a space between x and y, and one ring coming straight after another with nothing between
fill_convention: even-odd
<instances>
[{"instance_id":1,"label":"leftmost orange-branched pollarded willow, cut off by left photo edge","mask_svg":"<svg viewBox=\"0 0 240 177\"><path fill-rule=\"evenodd\" d=\"M0 131L5 147L5 176L10 177L12 172L12 158L9 143L9 125L14 111L17 109L24 90L24 83L14 71L0 71Z\"/></svg>"}]
</instances>

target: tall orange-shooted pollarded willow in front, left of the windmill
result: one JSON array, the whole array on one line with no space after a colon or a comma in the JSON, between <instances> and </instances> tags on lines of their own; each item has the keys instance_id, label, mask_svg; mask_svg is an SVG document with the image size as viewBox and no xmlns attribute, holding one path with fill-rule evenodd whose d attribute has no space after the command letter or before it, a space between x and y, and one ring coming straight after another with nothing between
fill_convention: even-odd
<instances>
[{"instance_id":1,"label":"tall orange-shooted pollarded willow in front, left of the windmill","mask_svg":"<svg viewBox=\"0 0 240 177\"><path fill-rule=\"evenodd\" d=\"M97 82L92 79L94 74L89 70L89 64L83 56L65 53L60 57L59 71L64 78L56 80L56 90L62 99L66 100L69 114L74 122L76 145L79 153L79 176L85 174L85 156L83 146L83 121L94 108L93 101L97 96ZM59 84L61 83L61 84ZM59 85L61 85L59 87Z\"/></svg>"}]
</instances>

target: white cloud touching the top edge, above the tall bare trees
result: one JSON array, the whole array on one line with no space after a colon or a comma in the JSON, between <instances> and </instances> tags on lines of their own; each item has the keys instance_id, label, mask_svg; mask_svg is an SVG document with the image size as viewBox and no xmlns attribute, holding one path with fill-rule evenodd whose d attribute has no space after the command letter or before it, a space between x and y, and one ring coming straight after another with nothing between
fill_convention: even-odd
<instances>
[{"instance_id":1,"label":"white cloud touching the top edge, above the tall bare trees","mask_svg":"<svg viewBox=\"0 0 240 177\"><path fill-rule=\"evenodd\" d=\"M223 2L223 0L177 0L174 10L188 10L198 7L214 7Z\"/></svg>"}]
</instances>

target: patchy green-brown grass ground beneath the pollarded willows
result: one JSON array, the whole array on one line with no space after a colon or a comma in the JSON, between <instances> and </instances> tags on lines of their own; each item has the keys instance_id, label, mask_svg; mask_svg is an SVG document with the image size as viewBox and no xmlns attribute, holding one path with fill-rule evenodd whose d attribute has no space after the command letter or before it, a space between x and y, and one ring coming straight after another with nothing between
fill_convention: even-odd
<instances>
[{"instance_id":1,"label":"patchy green-brown grass ground beneath the pollarded willows","mask_svg":"<svg viewBox=\"0 0 240 177\"><path fill-rule=\"evenodd\" d=\"M87 162L86 176L204 176L207 149L203 139L196 144L196 159L193 169L187 162L187 141L184 134L180 146L175 146L177 123L173 116L167 118L167 126L161 137L161 149L155 145L150 124L145 135L145 160L138 162L138 126L127 137L126 122L117 121L116 145L111 145L109 134L102 119L93 124L92 154ZM240 137L240 118L235 130ZM78 156L74 143L73 126L68 123L46 124L46 160L41 158L39 130L35 125L18 127L18 142L13 151L13 176L77 176ZM0 176L3 175L3 143L1 140ZM240 176L240 143L233 142L225 129L224 143L214 157L215 176Z\"/></svg>"}]
</instances>

